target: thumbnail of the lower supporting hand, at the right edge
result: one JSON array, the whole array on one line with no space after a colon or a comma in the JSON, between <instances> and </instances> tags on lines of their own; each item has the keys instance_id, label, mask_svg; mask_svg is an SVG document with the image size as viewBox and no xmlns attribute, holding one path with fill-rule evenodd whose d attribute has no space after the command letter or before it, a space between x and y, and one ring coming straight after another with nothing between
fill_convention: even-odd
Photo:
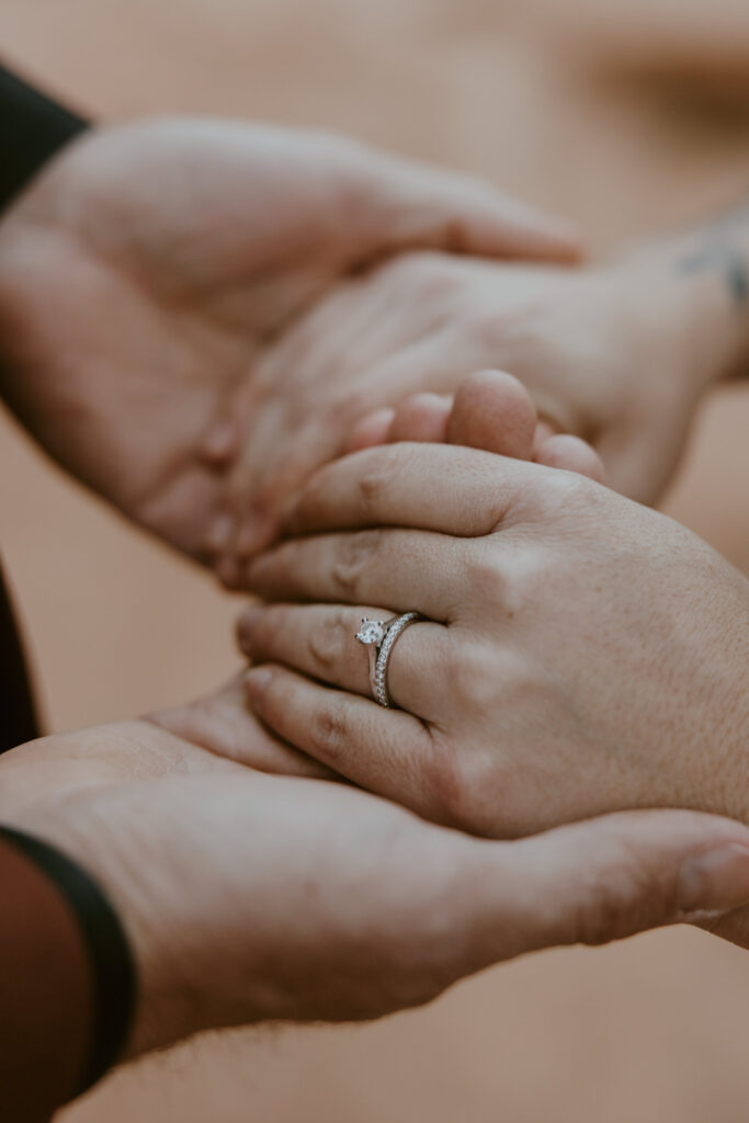
<instances>
[{"instance_id":1,"label":"thumbnail of the lower supporting hand, at the right edge","mask_svg":"<svg viewBox=\"0 0 749 1123\"><path fill-rule=\"evenodd\" d=\"M678 878L682 912L731 912L749 904L749 847L740 842L688 858Z\"/></svg>"}]
</instances>

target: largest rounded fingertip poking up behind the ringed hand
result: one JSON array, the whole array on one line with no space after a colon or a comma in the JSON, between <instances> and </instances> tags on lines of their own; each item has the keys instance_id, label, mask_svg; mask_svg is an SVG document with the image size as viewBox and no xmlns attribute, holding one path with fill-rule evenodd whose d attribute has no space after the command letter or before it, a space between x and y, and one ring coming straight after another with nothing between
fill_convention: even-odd
<instances>
[{"instance_id":1,"label":"largest rounded fingertip poking up behind the ringed hand","mask_svg":"<svg viewBox=\"0 0 749 1123\"><path fill-rule=\"evenodd\" d=\"M501 371L482 371L458 386L447 439L451 445L529 460L536 421L536 407L518 378Z\"/></svg>"}]
</instances>

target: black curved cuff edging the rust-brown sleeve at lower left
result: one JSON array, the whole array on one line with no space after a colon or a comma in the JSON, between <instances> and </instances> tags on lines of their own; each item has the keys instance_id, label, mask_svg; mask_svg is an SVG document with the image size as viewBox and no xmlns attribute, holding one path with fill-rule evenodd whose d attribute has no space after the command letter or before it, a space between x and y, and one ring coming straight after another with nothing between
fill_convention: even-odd
<instances>
[{"instance_id":1,"label":"black curved cuff edging the rust-brown sleeve at lower left","mask_svg":"<svg viewBox=\"0 0 749 1123\"><path fill-rule=\"evenodd\" d=\"M81 930L91 967L93 1024L88 1062L75 1095L94 1085L120 1057L136 996L136 970L127 937L99 886L70 858L36 838L0 828L0 838L31 860L66 901Z\"/></svg>"}]
</instances>

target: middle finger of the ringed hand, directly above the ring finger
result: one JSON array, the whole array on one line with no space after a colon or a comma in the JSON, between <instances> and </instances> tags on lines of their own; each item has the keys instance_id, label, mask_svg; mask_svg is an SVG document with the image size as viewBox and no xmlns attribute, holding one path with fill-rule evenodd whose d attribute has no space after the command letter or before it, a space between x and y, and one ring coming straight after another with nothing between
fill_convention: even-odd
<instances>
[{"instance_id":1,"label":"middle finger of the ringed hand, directly above the ring finger","mask_svg":"<svg viewBox=\"0 0 749 1123\"><path fill-rule=\"evenodd\" d=\"M265 601L387 604L446 621L469 590L468 539L413 530L360 530L292 539L250 562L246 586Z\"/></svg>"}]
</instances>

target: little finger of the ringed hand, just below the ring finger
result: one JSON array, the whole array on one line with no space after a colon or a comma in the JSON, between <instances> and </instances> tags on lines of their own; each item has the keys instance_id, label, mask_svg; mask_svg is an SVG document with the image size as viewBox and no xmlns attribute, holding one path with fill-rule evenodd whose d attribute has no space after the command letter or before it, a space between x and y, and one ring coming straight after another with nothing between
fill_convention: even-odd
<instances>
[{"instance_id":1,"label":"little finger of the ringed hand, just below the ring finger","mask_svg":"<svg viewBox=\"0 0 749 1123\"><path fill-rule=\"evenodd\" d=\"M418 718L274 665L249 670L246 685L255 713L282 740L355 784L442 821L428 777L444 772L431 767L432 740Z\"/></svg>"}]
</instances>

